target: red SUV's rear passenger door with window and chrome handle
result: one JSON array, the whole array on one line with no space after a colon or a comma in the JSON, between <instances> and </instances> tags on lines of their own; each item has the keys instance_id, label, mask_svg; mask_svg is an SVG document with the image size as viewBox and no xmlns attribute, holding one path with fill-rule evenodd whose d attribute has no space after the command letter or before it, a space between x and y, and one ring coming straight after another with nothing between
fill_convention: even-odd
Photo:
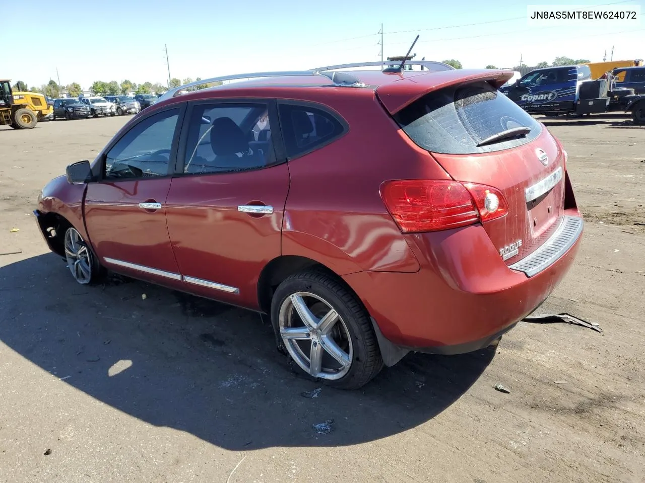
<instances>
[{"instance_id":1,"label":"red SUV's rear passenger door with window and chrome handle","mask_svg":"<svg viewBox=\"0 0 645 483\"><path fill-rule=\"evenodd\" d=\"M257 281L281 254L289 189L275 102L195 102L166 201L186 290L257 308Z\"/></svg>"}]
</instances>

